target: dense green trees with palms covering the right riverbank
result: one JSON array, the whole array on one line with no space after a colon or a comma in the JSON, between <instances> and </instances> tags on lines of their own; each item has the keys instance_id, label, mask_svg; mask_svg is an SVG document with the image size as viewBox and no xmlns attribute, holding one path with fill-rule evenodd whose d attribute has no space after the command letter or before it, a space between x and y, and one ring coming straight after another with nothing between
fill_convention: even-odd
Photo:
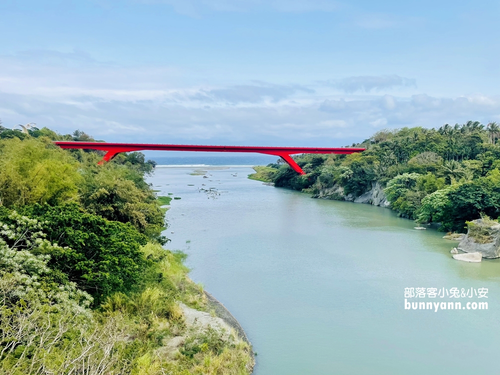
<instances>
[{"instance_id":1,"label":"dense green trees with palms covering the right riverbank","mask_svg":"<svg viewBox=\"0 0 500 375\"><path fill-rule=\"evenodd\" d=\"M287 164L269 166L277 168L276 186L312 194L330 189L336 199L359 196L378 183L399 215L465 231L465 222L481 213L500 215L499 138L495 122L383 129L352 144L365 147L361 153L296 156L303 176Z\"/></svg>"}]
</instances>

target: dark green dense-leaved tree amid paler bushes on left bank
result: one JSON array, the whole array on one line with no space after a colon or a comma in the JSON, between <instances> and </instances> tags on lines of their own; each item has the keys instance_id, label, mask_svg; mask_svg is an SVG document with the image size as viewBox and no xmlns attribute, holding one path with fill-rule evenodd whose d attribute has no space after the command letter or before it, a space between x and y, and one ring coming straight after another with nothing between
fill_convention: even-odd
<instances>
[{"instance_id":1,"label":"dark green dense-leaved tree amid paler bushes on left bank","mask_svg":"<svg viewBox=\"0 0 500 375\"><path fill-rule=\"evenodd\" d=\"M75 203L23 207L21 213L42 222L41 228L57 248L49 265L90 293L96 302L115 291L127 291L140 277L144 258L140 245L147 238L131 224L85 213Z\"/></svg>"}]
</instances>

